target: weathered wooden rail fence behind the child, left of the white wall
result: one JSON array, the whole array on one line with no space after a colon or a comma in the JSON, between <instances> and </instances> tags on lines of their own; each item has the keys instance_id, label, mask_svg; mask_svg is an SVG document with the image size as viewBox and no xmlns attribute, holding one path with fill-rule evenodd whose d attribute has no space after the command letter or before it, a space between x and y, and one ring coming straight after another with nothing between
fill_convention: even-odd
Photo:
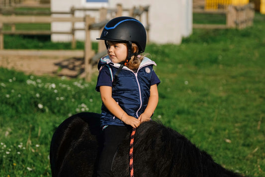
<instances>
[{"instance_id":1,"label":"weathered wooden rail fence behind the child, left of the white wall","mask_svg":"<svg viewBox=\"0 0 265 177\"><path fill-rule=\"evenodd\" d=\"M55 17L51 15L2 15L0 14L0 54L4 53L7 54L8 52L5 52L4 46L3 46L3 36L4 34L26 34L26 35L43 35L43 34L71 34L72 35L72 48L75 48L75 31L76 30L84 30L85 31L85 49L84 49L84 58L85 58L85 77L87 81L90 81L91 79L91 71L92 71L92 64L96 62L100 57L106 54L105 50L105 44L104 41L100 40L98 41L98 53L95 54L95 52L92 50L92 41L90 39L90 32L91 30L102 30L104 25L107 23L109 19L107 19L108 13L114 13L115 16L121 16L123 11L129 11L129 15L133 17L139 18L141 20L142 14L146 13L146 30L147 33L149 31L149 20L148 20L148 9L149 6L145 7L133 7L132 9L122 9L122 6L120 4L117 4L115 9L107 9L107 8L71 8L71 11L69 14L73 14L70 17ZM97 10L100 13L99 16L99 22L95 22L95 18L91 17L90 15L86 15L85 17L75 17L75 11L76 10ZM17 23L51 23L51 22L71 22L72 23L72 29L70 31L51 31L51 30L33 30L33 31L25 31L25 30L16 30L15 24ZM85 28L75 28L75 22L84 22ZM11 24L13 27L11 30L3 30L3 24ZM34 55L36 51L28 51L27 55ZM56 54L56 51L50 53ZM61 54L61 52L58 52L58 54Z\"/></svg>"}]
</instances>

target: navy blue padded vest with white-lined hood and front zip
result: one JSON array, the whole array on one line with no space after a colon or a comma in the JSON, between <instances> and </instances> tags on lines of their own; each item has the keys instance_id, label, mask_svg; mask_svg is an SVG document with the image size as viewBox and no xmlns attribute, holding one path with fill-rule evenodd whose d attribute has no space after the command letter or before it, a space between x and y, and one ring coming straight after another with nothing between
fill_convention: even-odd
<instances>
[{"instance_id":1,"label":"navy blue padded vest with white-lined hood and front zip","mask_svg":"<svg viewBox=\"0 0 265 177\"><path fill-rule=\"evenodd\" d=\"M130 116L138 118L147 106L150 97L153 65L156 65L155 62L145 57L136 73L127 67L123 67L117 77L117 84L112 86L112 97ZM108 57L100 59L98 64L99 68L109 68L112 81L119 66L120 64L111 63ZM111 114L103 103L100 121L101 127L105 125L125 125L120 119Z\"/></svg>"}]
</instances>

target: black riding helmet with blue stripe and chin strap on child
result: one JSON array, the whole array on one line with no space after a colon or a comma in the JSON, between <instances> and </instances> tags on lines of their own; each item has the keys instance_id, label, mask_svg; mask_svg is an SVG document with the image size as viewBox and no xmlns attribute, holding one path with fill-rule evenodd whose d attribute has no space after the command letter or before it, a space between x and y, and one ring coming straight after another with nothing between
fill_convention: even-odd
<instances>
[{"instance_id":1,"label":"black riding helmet with blue stripe and chin strap on child","mask_svg":"<svg viewBox=\"0 0 265 177\"><path fill-rule=\"evenodd\" d=\"M145 51L146 30L139 20L128 16L120 16L111 19L105 25L100 38L97 39L105 40L106 48L108 48L107 40L127 43L128 58L125 61L126 65L132 55L138 55ZM132 43L138 46L139 51L137 54L131 54Z\"/></svg>"}]
</instances>

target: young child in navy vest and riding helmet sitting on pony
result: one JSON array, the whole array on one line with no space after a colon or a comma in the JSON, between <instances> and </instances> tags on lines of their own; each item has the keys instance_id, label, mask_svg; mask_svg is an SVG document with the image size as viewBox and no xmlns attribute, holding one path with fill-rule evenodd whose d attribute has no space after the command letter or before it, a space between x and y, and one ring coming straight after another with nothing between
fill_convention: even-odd
<instances>
[{"instance_id":1,"label":"young child in navy vest and riding helmet sitting on pony","mask_svg":"<svg viewBox=\"0 0 265 177\"><path fill-rule=\"evenodd\" d=\"M106 177L128 131L151 120L158 104L160 80L153 70L156 63L139 55L145 51L146 31L137 19L122 16L110 20L98 39L105 41L108 54L98 63L96 85L102 99L104 137L97 176Z\"/></svg>"}]
</instances>

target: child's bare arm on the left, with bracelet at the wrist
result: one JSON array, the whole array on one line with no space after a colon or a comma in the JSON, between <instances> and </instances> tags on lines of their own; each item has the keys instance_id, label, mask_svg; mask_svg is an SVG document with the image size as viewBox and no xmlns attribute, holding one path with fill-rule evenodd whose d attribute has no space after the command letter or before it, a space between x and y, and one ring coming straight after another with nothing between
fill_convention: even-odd
<instances>
[{"instance_id":1,"label":"child's bare arm on the left, with bracelet at the wrist","mask_svg":"<svg viewBox=\"0 0 265 177\"><path fill-rule=\"evenodd\" d=\"M112 88L109 86L99 87L101 100L106 108L117 118L122 120L125 124L131 125L136 128L140 125L140 120L135 117L129 116L112 98Z\"/></svg>"}]
</instances>

